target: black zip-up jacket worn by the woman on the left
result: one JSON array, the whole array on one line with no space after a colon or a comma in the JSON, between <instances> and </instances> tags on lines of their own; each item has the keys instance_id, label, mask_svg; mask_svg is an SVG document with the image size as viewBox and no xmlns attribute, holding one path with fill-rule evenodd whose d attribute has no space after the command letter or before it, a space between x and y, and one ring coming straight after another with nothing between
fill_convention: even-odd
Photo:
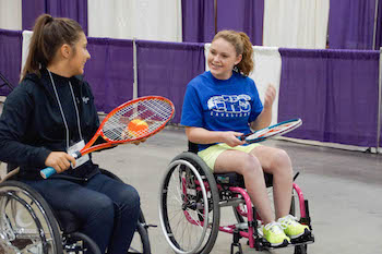
<instances>
[{"instance_id":1,"label":"black zip-up jacket worn by the woman on the left","mask_svg":"<svg viewBox=\"0 0 382 254\"><path fill-rule=\"evenodd\" d=\"M52 77L69 125L70 145L80 141L77 119L69 82L77 104L85 144L97 131L99 120L89 85L76 76ZM51 152L67 152L65 126L49 73L28 74L7 97L0 117L0 160L20 166L19 177L41 179L39 171ZM92 160L61 174L86 179L98 170Z\"/></svg>"}]
</instances>

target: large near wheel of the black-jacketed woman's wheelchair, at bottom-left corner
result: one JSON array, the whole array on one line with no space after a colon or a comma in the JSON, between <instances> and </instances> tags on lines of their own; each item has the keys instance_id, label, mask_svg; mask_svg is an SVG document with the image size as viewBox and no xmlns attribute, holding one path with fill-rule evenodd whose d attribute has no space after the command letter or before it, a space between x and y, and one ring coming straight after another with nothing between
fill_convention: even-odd
<instances>
[{"instance_id":1,"label":"large near wheel of the black-jacketed woman's wheelchair, at bottom-left corner","mask_svg":"<svg viewBox=\"0 0 382 254\"><path fill-rule=\"evenodd\" d=\"M0 184L0 253L63 253L49 205L28 185L16 181Z\"/></svg>"}]
</instances>

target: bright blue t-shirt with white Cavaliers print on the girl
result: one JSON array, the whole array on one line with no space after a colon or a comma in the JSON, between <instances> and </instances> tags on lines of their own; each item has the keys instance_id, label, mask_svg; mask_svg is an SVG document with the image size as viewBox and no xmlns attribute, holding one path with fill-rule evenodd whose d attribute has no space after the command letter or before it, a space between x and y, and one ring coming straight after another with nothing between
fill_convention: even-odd
<instances>
[{"instance_id":1,"label":"bright blue t-shirt with white Cavaliers print on the girl","mask_svg":"<svg viewBox=\"0 0 382 254\"><path fill-rule=\"evenodd\" d=\"M228 80L217 80L211 72L193 78L187 86L180 123L208 131L249 133L249 123L263 110L252 78L237 72ZM214 144L199 145L205 149Z\"/></svg>"}]
</instances>

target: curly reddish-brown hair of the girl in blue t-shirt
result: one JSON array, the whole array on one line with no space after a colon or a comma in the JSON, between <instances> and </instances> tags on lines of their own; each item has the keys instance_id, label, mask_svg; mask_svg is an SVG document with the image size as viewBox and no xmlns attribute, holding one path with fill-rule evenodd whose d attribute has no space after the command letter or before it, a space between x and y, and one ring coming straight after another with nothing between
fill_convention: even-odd
<instances>
[{"instance_id":1,"label":"curly reddish-brown hair of the girl in blue t-shirt","mask_svg":"<svg viewBox=\"0 0 382 254\"><path fill-rule=\"evenodd\" d=\"M237 72L248 76L253 71L253 49L251 40L243 32L236 31L220 31L217 33L212 41L223 38L230 43L235 49L237 56L242 55L241 61L236 65Z\"/></svg>"}]
</instances>

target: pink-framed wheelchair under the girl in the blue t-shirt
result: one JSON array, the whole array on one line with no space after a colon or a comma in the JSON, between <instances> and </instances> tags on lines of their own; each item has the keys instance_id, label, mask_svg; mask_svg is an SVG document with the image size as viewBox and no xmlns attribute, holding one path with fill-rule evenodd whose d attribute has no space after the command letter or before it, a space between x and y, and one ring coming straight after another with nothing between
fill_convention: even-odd
<instances>
[{"instance_id":1,"label":"pink-framed wheelchair under the girl in the blue t-shirt","mask_svg":"<svg viewBox=\"0 0 382 254\"><path fill-rule=\"evenodd\" d=\"M218 231L232 234L231 254L242 254L240 239L256 251L273 249L263 238L264 226L256 214L241 174L213 174L208 166L196 155L198 145L189 142L189 150L176 156L167 167L159 190L159 219L165 238L176 253L206 254L215 244ZM265 174L272 198L272 174ZM295 176L294 181L298 177ZM297 204L299 209L297 209ZM220 208L231 207L236 222L220 226ZM290 214L310 229L308 201L301 189L293 183ZM288 246L295 254L306 254L314 235L302 235ZM237 250L237 252L235 252Z\"/></svg>"}]
</instances>

